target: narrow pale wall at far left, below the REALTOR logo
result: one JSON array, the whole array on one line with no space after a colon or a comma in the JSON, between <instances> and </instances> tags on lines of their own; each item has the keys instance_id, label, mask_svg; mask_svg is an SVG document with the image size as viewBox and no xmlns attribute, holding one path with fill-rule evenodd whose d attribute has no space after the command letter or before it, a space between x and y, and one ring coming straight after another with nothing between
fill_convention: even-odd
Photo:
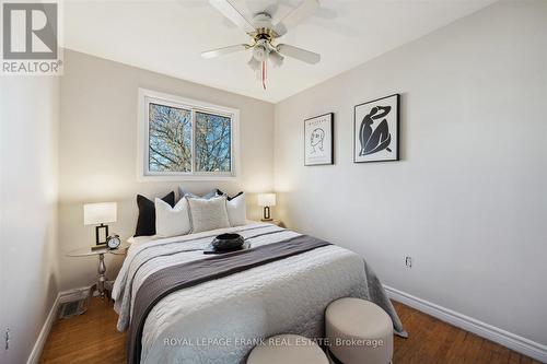
<instances>
[{"instance_id":1,"label":"narrow pale wall at far left, below the REALTOR logo","mask_svg":"<svg viewBox=\"0 0 547 364\"><path fill-rule=\"evenodd\" d=\"M59 78L0 83L0 362L24 363L58 292Z\"/></svg>"}]
</instances>

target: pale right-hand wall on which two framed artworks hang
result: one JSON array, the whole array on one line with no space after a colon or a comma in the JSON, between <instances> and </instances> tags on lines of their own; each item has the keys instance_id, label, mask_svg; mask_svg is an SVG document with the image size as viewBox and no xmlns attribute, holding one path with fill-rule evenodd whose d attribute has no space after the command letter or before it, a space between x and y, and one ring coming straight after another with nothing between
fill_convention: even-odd
<instances>
[{"instance_id":1,"label":"pale right-hand wall on which two framed artworks hang","mask_svg":"<svg viewBox=\"0 0 547 364\"><path fill-rule=\"evenodd\" d=\"M500 2L276 105L281 219L547 344L546 39L547 1ZM353 105L393 93L401 161L353 164ZM330 111L336 164L304 167L303 120Z\"/></svg>"}]
</instances>

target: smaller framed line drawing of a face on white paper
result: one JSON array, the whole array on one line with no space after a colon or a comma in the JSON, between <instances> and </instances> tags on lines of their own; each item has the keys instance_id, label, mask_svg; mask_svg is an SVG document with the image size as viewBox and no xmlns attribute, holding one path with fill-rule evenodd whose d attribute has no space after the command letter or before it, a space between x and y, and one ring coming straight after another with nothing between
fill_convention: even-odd
<instances>
[{"instance_id":1,"label":"smaller framed line drawing of a face on white paper","mask_svg":"<svg viewBox=\"0 0 547 364\"><path fill-rule=\"evenodd\" d=\"M304 120L304 165L333 164L334 114Z\"/></svg>"}]
</instances>

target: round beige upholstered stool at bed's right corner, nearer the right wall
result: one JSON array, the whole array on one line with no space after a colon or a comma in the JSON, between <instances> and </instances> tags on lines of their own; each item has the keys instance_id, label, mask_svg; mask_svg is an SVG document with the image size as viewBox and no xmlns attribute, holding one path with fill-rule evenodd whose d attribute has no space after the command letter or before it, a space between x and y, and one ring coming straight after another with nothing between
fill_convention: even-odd
<instances>
[{"instance_id":1,"label":"round beige upholstered stool at bed's right corner, nearer the right wall","mask_svg":"<svg viewBox=\"0 0 547 364\"><path fill-rule=\"evenodd\" d=\"M387 364L393 356L393 322L379 305L340 298L325 313L330 354L344 364Z\"/></svg>"}]
</instances>

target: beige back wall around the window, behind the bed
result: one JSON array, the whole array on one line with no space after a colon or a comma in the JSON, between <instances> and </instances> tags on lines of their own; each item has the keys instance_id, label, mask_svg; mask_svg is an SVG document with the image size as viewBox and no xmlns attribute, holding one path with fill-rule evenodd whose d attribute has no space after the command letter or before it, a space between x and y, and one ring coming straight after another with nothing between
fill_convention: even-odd
<instances>
[{"instance_id":1,"label":"beige back wall around the window, behind the bed","mask_svg":"<svg viewBox=\"0 0 547 364\"><path fill-rule=\"evenodd\" d=\"M94 244L94 227L83 226L84 202L118 202L110 233L131 236L137 222L136 195L163 196L179 183L137 181L138 89L144 87L240 109L241 165L234 181L183 181L194 192L221 188L230 193L270 191L274 184L274 105L159 73L66 50L61 80L59 238L60 289L93 283L96 257L66 253ZM249 218L259 209L254 196ZM113 259L113 260L112 260ZM120 258L107 257L115 279Z\"/></svg>"}]
</instances>

